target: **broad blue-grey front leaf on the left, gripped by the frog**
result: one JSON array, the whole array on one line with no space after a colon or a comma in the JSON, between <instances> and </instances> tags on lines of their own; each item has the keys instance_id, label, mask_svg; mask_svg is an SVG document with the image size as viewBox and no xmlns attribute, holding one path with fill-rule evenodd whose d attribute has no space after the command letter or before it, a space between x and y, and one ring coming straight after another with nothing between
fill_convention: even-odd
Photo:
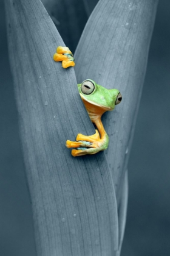
<instances>
[{"instance_id":1,"label":"broad blue-grey front leaf on the left, gripped by the frog","mask_svg":"<svg viewBox=\"0 0 170 256\"><path fill-rule=\"evenodd\" d=\"M73 69L53 62L63 41L40 1L5 4L37 254L115 255L117 202L106 157L73 158L65 146L94 127Z\"/></svg>"}]
</instances>

